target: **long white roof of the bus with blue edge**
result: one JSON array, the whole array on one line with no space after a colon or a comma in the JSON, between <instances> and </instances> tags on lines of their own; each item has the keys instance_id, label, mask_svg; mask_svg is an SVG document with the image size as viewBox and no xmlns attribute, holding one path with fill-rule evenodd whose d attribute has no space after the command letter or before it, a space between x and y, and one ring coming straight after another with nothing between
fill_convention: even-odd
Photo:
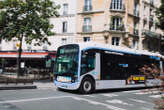
<instances>
[{"instance_id":1,"label":"long white roof of the bus with blue edge","mask_svg":"<svg viewBox=\"0 0 164 110\"><path fill-rule=\"evenodd\" d=\"M80 46L80 50L86 50L86 49L102 49L102 50L107 50L107 51L114 51L114 52L119 52L119 53L128 53L128 54L134 54L134 55L148 55L148 56L156 56L156 57L161 57L164 58L159 53L153 53L153 52L148 52L146 50L136 50L136 49L130 49L126 47L120 47L120 46L113 46L109 44L100 44L100 43L95 43L95 42L84 42L84 43L76 43Z\"/></svg>"}]
</instances>

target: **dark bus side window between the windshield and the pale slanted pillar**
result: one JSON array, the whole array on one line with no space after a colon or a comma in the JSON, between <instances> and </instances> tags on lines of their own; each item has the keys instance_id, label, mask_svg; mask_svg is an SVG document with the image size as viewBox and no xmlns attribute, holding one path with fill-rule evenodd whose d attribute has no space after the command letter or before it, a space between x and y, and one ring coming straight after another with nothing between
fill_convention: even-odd
<instances>
[{"instance_id":1,"label":"dark bus side window between the windshield and the pale slanted pillar","mask_svg":"<svg viewBox=\"0 0 164 110\"><path fill-rule=\"evenodd\" d=\"M95 69L95 52L82 52L81 57L81 75Z\"/></svg>"}]
</instances>

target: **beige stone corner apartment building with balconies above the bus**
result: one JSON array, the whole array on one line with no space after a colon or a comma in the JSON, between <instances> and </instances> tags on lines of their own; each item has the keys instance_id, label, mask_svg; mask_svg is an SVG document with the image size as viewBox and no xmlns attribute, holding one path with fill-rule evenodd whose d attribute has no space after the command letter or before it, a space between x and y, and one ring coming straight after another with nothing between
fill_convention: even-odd
<instances>
[{"instance_id":1,"label":"beige stone corner apartment building with balconies above the bus","mask_svg":"<svg viewBox=\"0 0 164 110\"><path fill-rule=\"evenodd\" d=\"M78 0L77 41L96 41L157 52L162 31L155 25L160 0Z\"/></svg>"}]
</instances>

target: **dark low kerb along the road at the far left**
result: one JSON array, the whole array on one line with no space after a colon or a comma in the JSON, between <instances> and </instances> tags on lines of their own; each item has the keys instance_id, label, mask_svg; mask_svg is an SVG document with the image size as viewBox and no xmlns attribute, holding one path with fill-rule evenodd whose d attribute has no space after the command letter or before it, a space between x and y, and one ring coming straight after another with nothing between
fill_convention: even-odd
<instances>
[{"instance_id":1,"label":"dark low kerb along the road at the far left","mask_svg":"<svg viewBox=\"0 0 164 110\"><path fill-rule=\"evenodd\" d=\"M37 86L2 86L0 90L36 89Z\"/></svg>"}]
</instances>

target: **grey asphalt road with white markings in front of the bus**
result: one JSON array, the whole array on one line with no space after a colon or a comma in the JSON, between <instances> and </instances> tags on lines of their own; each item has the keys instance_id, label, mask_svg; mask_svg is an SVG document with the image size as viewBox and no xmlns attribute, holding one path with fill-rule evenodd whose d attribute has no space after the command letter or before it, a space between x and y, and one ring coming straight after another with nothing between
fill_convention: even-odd
<instances>
[{"instance_id":1,"label":"grey asphalt road with white markings in front of the bus","mask_svg":"<svg viewBox=\"0 0 164 110\"><path fill-rule=\"evenodd\" d=\"M98 91L91 95L55 88L0 91L0 110L155 110L160 95L147 90Z\"/></svg>"}]
</instances>

